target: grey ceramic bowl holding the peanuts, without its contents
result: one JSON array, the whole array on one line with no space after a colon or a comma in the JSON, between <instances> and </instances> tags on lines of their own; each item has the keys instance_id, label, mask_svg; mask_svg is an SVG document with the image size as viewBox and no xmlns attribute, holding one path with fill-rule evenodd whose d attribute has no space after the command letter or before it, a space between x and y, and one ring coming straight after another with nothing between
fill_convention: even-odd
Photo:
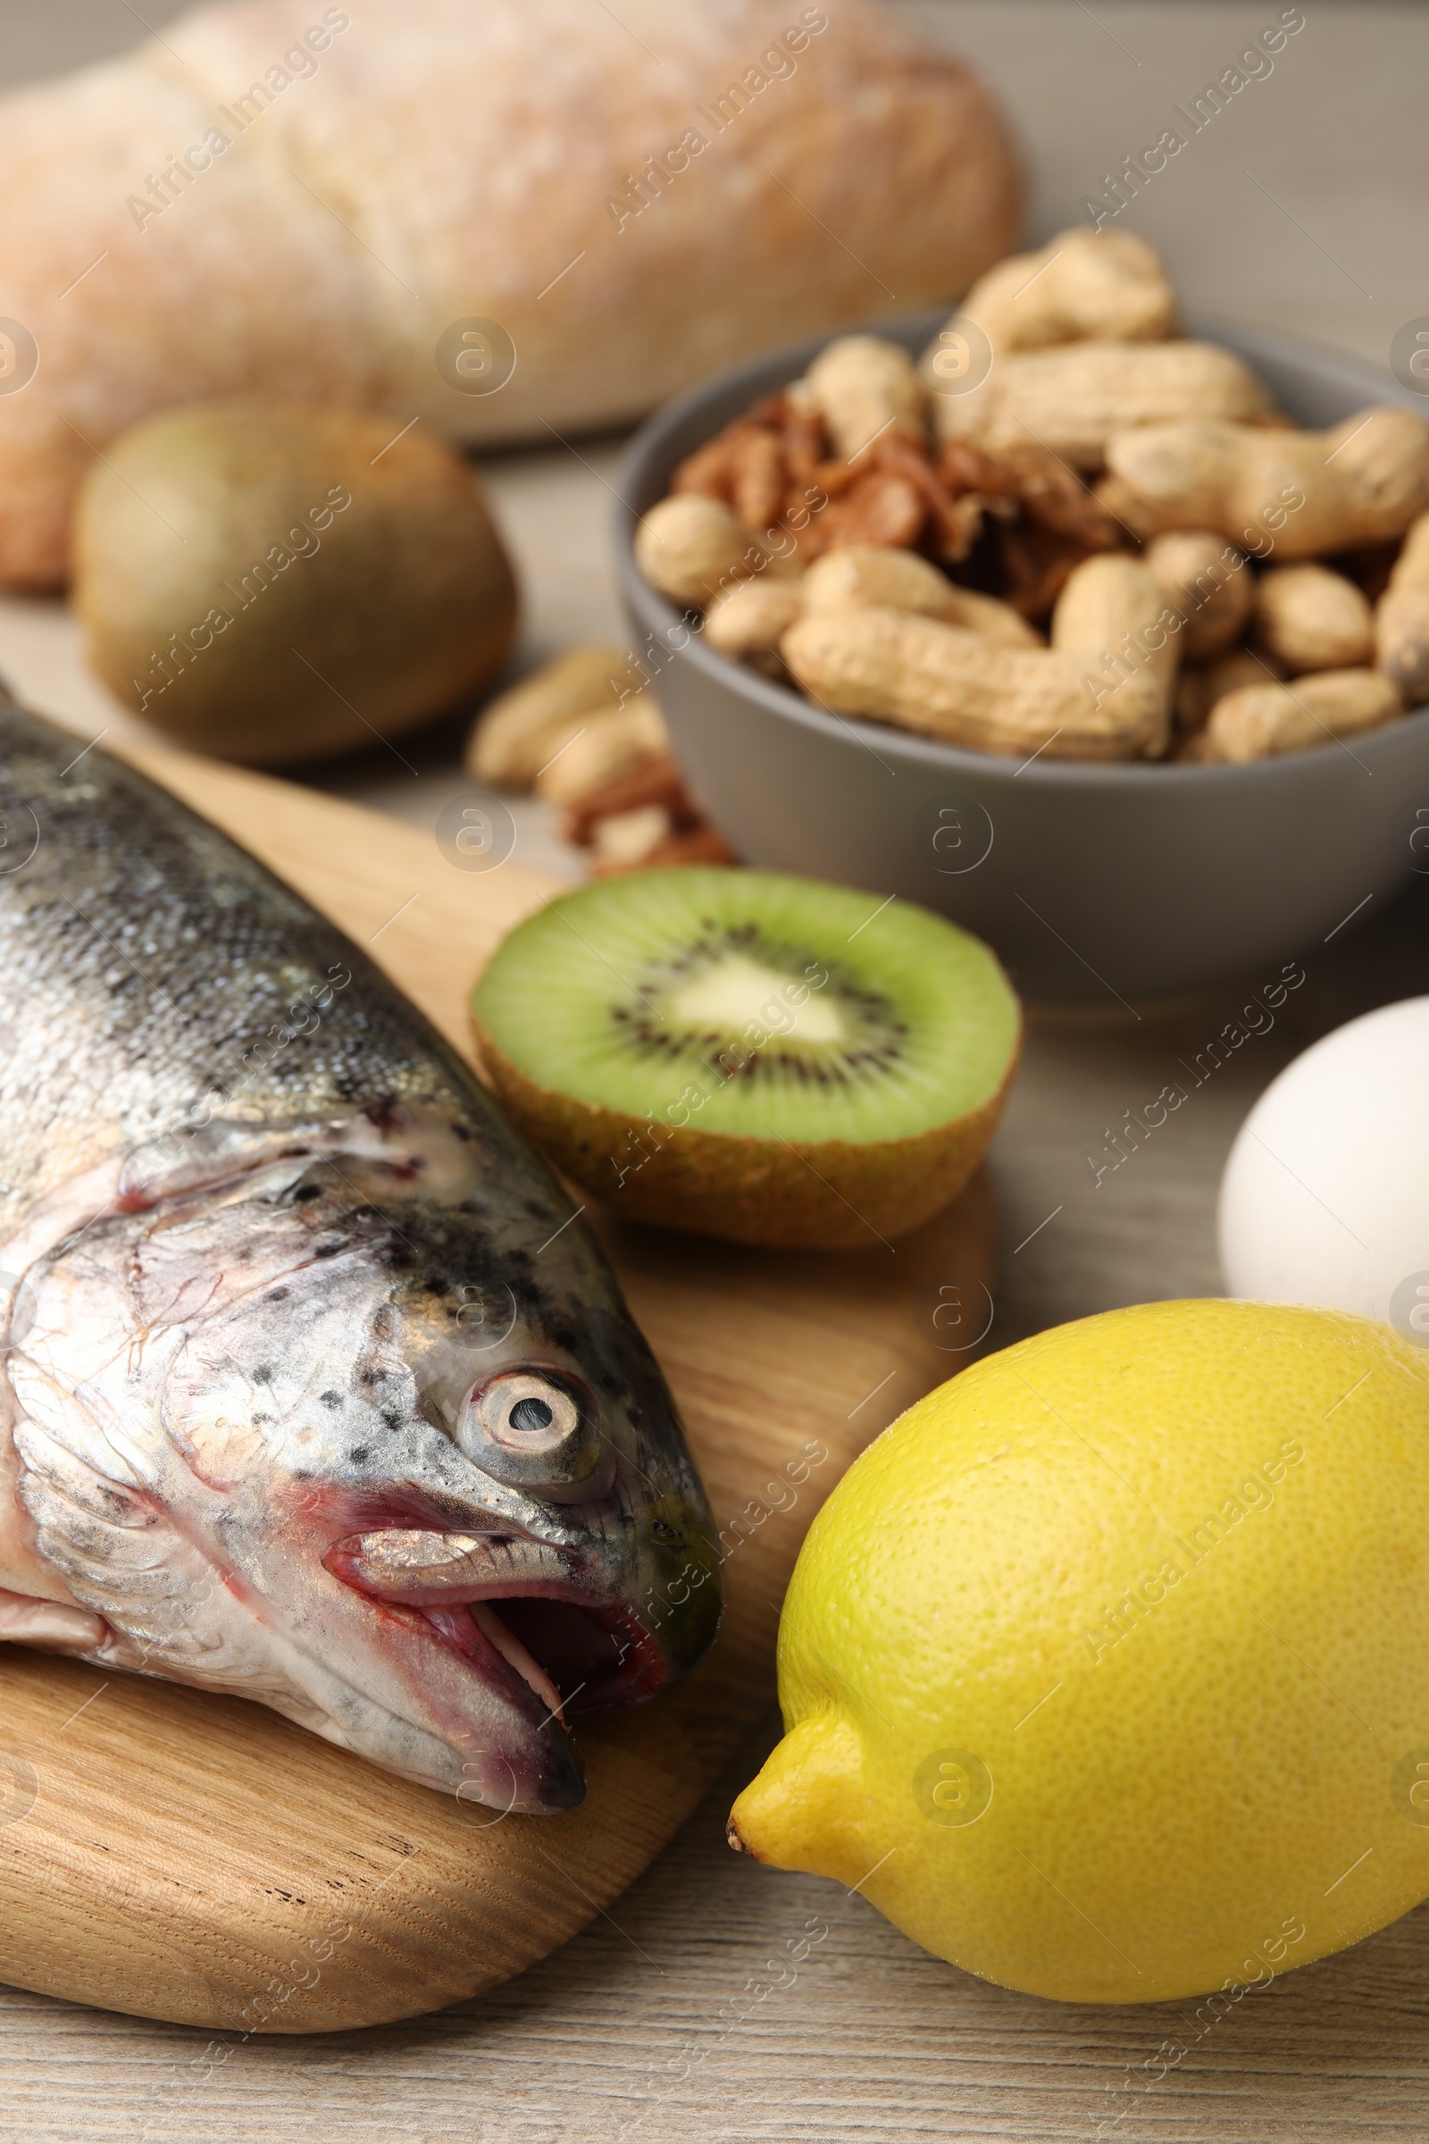
<instances>
[{"instance_id":1,"label":"grey ceramic bowl holding the peanuts, without its contents","mask_svg":"<svg viewBox=\"0 0 1429 2144\"><path fill-rule=\"evenodd\" d=\"M900 324L921 349L943 313ZM1249 328L1238 349L1305 425L1369 403L1429 407L1367 364ZM690 789L750 864L902 894L988 939L1041 999L1150 997L1305 958L1416 864L1429 823L1429 710L1245 768L1018 768L885 723L846 720L703 645L636 572L638 517L675 463L827 341L722 373L653 416L619 478L617 560ZM1345 922L1352 918L1354 922Z\"/></svg>"}]
</instances>

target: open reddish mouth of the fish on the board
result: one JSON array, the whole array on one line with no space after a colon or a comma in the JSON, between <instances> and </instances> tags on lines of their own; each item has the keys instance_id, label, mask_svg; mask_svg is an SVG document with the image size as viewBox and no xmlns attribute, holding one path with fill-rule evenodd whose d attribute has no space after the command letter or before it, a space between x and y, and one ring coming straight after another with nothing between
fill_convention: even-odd
<instances>
[{"instance_id":1,"label":"open reddish mouth of the fish on the board","mask_svg":"<svg viewBox=\"0 0 1429 2144\"><path fill-rule=\"evenodd\" d=\"M456 1655L486 1692L503 1700L525 1737L546 1745L553 1775L542 1807L583 1795L568 1739L572 1719L643 1704L681 1672L647 1629L634 1602L600 1582L600 1544L553 1548L518 1533L437 1533L383 1527L354 1533L324 1554L332 1578L364 1595L383 1619ZM501 1799L476 1782L480 1799ZM525 1788L516 1805L529 1807Z\"/></svg>"}]
</instances>

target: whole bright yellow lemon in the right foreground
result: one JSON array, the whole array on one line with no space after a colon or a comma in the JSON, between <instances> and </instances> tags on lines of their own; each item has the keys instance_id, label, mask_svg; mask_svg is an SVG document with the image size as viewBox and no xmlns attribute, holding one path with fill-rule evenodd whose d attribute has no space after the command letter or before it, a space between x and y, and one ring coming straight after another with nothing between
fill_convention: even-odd
<instances>
[{"instance_id":1,"label":"whole bright yellow lemon in the right foreground","mask_svg":"<svg viewBox=\"0 0 1429 2144\"><path fill-rule=\"evenodd\" d=\"M968 1972L1243 1990L1429 1895L1429 1353L1330 1310L1039 1334L840 1482L731 1842Z\"/></svg>"}]
</instances>

